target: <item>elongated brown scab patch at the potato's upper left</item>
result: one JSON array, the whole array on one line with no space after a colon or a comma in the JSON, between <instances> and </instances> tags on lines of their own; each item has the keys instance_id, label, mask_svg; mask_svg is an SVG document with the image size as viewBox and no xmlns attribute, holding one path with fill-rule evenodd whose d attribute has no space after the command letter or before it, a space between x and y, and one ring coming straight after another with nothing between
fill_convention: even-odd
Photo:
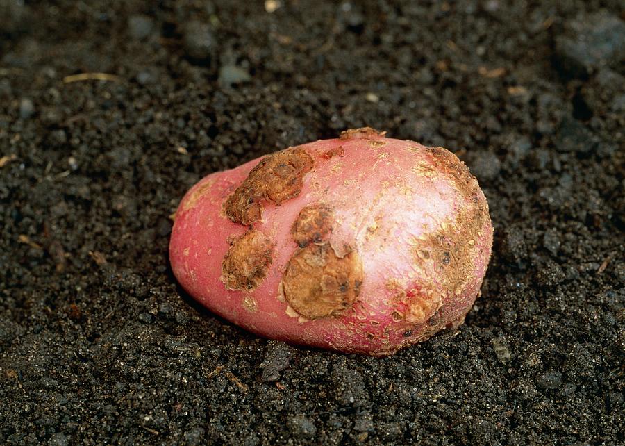
<instances>
[{"instance_id":1,"label":"elongated brown scab patch at the potato's upper left","mask_svg":"<svg viewBox=\"0 0 625 446\"><path fill-rule=\"evenodd\" d=\"M226 199L226 216L246 225L260 220L263 201L280 206L283 201L297 197L303 176L312 168L313 158L297 147L265 156Z\"/></svg>"}]
</instances>

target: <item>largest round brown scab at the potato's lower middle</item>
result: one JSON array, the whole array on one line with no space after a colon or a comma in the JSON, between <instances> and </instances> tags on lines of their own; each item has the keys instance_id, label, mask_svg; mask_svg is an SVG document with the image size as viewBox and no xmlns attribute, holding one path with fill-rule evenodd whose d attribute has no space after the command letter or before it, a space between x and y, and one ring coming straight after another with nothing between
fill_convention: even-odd
<instances>
[{"instance_id":1,"label":"largest round brown scab at the potato's lower middle","mask_svg":"<svg viewBox=\"0 0 625 446\"><path fill-rule=\"evenodd\" d=\"M299 249L289 261L283 291L288 304L308 319L338 316L350 308L363 283L358 252L336 255L329 243Z\"/></svg>"}]
</instances>

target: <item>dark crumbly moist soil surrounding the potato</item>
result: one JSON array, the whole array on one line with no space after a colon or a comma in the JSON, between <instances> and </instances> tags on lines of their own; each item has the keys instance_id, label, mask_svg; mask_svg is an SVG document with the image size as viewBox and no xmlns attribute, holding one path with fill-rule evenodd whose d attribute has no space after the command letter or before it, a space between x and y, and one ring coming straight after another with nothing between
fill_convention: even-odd
<instances>
[{"instance_id":1,"label":"dark crumbly moist soil surrounding the potato","mask_svg":"<svg viewBox=\"0 0 625 446\"><path fill-rule=\"evenodd\" d=\"M0 0L0 443L625 444L624 18ZM492 261L456 333L292 347L176 285L192 184L365 125L451 149L485 191Z\"/></svg>"}]
</instances>

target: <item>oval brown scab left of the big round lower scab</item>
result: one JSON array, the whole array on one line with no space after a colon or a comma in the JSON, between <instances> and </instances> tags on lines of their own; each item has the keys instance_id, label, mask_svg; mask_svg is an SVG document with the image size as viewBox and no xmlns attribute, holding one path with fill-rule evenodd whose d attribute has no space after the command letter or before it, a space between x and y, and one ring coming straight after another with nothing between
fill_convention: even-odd
<instances>
[{"instance_id":1,"label":"oval brown scab left of the big round lower scab","mask_svg":"<svg viewBox=\"0 0 625 446\"><path fill-rule=\"evenodd\" d=\"M253 290L265 279L274 245L265 234L250 229L230 242L222 263L222 282L228 290Z\"/></svg>"}]
</instances>

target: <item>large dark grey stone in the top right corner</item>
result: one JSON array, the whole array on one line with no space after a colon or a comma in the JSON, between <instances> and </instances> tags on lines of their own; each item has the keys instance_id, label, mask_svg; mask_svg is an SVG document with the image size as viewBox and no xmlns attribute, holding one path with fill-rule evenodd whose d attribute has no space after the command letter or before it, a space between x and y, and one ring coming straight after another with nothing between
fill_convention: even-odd
<instances>
[{"instance_id":1,"label":"large dark grey stone in the top right corner","mask_svg":"<svg viewBox=\"0 0 625 446\"><path fill-rule=\"evenodd\" d=\"M601 10L565 26L556 38L556 60L565 76L587 78L625 59L625 23Z\"/></svg>"}]
</instances>

